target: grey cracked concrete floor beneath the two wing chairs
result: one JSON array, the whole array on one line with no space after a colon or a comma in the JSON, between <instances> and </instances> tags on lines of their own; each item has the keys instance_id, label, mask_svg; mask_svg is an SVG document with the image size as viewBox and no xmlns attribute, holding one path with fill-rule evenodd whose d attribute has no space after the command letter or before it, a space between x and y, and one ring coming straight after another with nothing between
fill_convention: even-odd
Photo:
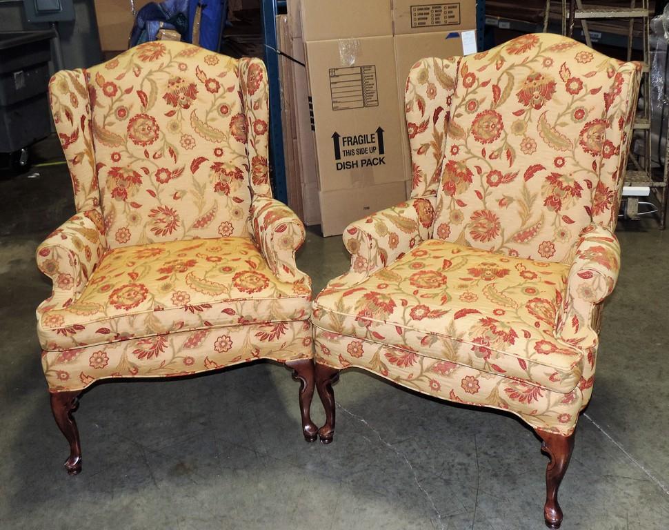
<instances>
[{"instance_id":1,"label":"grey cracked concrete floor beneath the two wing chairs","mask_svg":"<svg viewBox=\"0 0 669 530\"><path fill-rule=\"evenodd\" d=\"M59 155L54 141L37 161ZM66 166L0 181L0 529L541 529L548 460L521 422L348 372L337 435L303 442L297 384L274 364L97 386L77 422L83 473L48 406L34 249L73 212ZM563 529L669 527L669 233L619 228L623 271L601 332L595 394L561 487ZM314 289L348 268L310 230ZM323 419L314 400L314 419Z\"/></svg>"}]
</instances>

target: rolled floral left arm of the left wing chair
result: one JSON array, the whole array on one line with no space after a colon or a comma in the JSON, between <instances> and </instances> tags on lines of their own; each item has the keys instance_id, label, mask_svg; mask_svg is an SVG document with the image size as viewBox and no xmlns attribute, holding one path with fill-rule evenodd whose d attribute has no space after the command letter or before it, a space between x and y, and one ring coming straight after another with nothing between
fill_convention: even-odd
<instances>
[{"instance_id":1,"label":"rolled floral left arm of the left wing chair","mask_svg":"<svg viewBox=\"0 0 669 530\"><path fill-rule=\"evenodd\" d=\"M69 306L86 287L107 250L102 214L86 210L73 215L37 247L37 267L52 279L53 293L39 313Z\"/></svg>"}]
</instances>

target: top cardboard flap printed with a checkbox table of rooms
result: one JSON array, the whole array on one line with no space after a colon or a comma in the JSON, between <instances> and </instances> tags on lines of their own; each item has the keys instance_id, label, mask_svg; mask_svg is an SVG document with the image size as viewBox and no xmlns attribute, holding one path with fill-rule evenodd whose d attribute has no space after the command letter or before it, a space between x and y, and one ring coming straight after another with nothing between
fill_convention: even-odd
<instances>
[{"instance_id":1,"label":"top cardboard flap printed with a checkbox table of rooms","mask_svg":"<svg viewBox=\"0 0 669 530\"><path fill-rule=\"evenodd\" d=\"M392 0L395 35L476 28L476 0Z\"/></svg>"}]
</instances>

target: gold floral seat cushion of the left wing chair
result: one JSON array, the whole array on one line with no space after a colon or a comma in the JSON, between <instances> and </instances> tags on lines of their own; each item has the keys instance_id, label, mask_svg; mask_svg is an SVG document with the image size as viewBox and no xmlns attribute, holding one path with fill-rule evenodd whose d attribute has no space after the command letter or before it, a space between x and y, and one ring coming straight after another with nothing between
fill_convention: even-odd
<instances>
[{"instance_id":1,"label":"gold floral seat cushion of the left wing chair","mask_svg":"<svg viewBox=\"0 0 669 530\"><path fill-rule=\"evenodd\" d=\"M67 281L67 279L63 279ZM215 326L306 320L310 285L281 282L243 237L110 250L77 300L41 306L45 351Z\"/></svg>"}]
</instances>

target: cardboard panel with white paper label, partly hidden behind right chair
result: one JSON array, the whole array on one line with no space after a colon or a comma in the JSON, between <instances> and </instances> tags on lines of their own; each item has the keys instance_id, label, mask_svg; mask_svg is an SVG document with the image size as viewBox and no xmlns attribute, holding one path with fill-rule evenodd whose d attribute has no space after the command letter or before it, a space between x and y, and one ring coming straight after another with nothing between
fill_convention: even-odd
<instances>
[{"instance_id":1,"label":"cardboard panel with white paper label, partly hidden behind right chair","mask_svg":"<svg viewBox=\"0 0 669 530\"><path fill-rule=\"evenodd\" d=\"M411 148L404 111L404 92L409 71L424 57L452 57L455 55L469 55L476 52L476 32L415 33L409 35L395 35L395 63L397 64L397 93L399 96L399 115L403 133L402 152L405 160L407 179L411 178Z\"/></svg>"}]
</instances>

